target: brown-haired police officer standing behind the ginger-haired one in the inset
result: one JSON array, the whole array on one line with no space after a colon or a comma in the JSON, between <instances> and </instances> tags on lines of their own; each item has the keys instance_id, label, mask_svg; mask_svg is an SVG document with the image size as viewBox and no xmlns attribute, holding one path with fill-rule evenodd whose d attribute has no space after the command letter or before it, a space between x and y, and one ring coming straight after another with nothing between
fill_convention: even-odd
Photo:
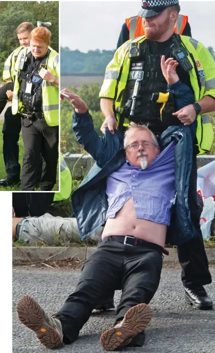
<instances>
[{"instance_id":1,"label":"brown-haired police officer standing behind the ginger-haired one in the inset","mask_svg":"<svg viewBox=\"0 0 215 353\"><path fill-rule=\"evenodd\" d=\"M30 22L22 22L16 28L20 46L11 52L4 63L2 77L7 83L0 88L0 113L4 109L7 100L12 100L15 61L21 49L29 46L30 32L33 28L34 26ZM18 162L18 139L20 131L20 114L13 115L11 106L9 106L4 113L2 128L3 158L7 175L0 180L0 186L10 186L20 181L20 164Z\"/></svg>"}]
</instances>

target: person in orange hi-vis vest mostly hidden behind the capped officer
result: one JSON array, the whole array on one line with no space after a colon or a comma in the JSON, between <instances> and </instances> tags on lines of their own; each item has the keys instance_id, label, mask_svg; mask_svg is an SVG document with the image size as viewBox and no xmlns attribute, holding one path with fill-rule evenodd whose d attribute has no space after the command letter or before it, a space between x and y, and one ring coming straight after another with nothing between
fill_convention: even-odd
<instances>
[{"instance_id":1,"label":"person in orange hi-vis vest mostly hidden behind the capped officer","mask_svg":"<svg viewBox=\"0 0 215 353\"><path fill-rule=\"evenodd\" d=\"M191 26L188 22L188 16L184 14L179 14L177 21L175 23L175 32L181 35L191 35ZM143 17L142 16L132 16L126 18L125 23L122 25L122 29L117 42L117 49L120 45L125 43L127 40L132 38L137 38L144 35Z\"/></svg>"}]
</instances>

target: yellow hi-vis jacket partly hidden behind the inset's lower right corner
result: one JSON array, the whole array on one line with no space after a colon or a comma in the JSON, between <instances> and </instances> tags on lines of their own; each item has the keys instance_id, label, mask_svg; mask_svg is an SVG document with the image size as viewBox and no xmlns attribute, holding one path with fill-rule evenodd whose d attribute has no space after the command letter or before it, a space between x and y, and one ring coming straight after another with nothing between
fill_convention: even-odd
<instances>
[{"instance_id":1,"label":"yellow hi-vis jacket partly hidden behind the inset's lower right corner","mask_svg":"<svg viewBox=\"0 0 215 353\"><path fill-rule=\"evenodd\" d=\"M60 153L60 192L55 192L54 201L67 199L72 192L72 175Z\"/></svg>"}]
</instances>

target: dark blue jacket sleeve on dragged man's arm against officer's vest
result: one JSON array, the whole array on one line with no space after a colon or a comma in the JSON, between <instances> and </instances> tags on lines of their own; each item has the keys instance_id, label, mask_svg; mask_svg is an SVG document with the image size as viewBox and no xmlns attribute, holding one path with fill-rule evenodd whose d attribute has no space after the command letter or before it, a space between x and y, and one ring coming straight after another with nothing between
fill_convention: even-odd
<instances>
[{"instance_id":1,"label":"dark blue jacket sleeve on dragged man's arm against officer's vest","mask_svg":"<svg viewBox=\"0 0 215 353\"><path fill-rule=\"evenodd\" d=\"M181 79L174 84L168 84L167 90L174 94L177 110L195 102L195 97L191 88L183 83Z\"/></svg>"}]
</instances>

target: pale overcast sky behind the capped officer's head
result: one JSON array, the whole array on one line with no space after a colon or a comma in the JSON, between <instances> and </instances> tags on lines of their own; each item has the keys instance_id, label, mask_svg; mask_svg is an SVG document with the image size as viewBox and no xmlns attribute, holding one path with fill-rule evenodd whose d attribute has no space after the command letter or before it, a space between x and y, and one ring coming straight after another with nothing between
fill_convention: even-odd
<instances>
[{"instance_id":1,"label":"pale overcast sky behind the capped officer's head","mask_svg":"<svg viewBox=\"0 0 215 353\"><path fill-rule=\"evenodd\" d=\"M141 0L60 1L60 45L87 52L115 49L125 18L135 16ZM180 1L193 38L215 49L215 0Z\"/></svg>"}]
</instances>

